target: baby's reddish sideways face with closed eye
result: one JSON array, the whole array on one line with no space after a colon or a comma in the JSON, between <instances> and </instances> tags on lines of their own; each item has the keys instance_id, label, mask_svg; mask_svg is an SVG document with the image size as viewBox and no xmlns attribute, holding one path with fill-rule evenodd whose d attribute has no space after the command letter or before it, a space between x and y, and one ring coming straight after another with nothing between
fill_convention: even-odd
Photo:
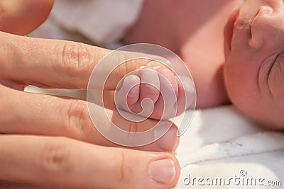
<instances>
[{"instance_id":1,"label":"baby's reddish sideways face with closed eye","mask_svg":"<svg viewBox=\"0 0 284 189\"><path fill-rule=\"evenodd\" d=\"M284 1L245 1L224 36L231 101L256 120L284 128Z\"/></svg>"}]
</instances>

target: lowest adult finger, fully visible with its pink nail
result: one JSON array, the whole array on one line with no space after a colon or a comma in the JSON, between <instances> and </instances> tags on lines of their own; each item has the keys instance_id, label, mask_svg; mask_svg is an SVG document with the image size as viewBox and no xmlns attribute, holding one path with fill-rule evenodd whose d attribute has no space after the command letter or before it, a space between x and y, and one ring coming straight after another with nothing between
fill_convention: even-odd
<instances>
[{"instance_id":1,"label":"lowest adult finger, fully visible with its pink nail","mask_svg":"<svg viewBox=\"0 0 284 189\"><path fill-rule=\"evenodd\" d=\"M177 159L166 153L62 137L1 135L0 144L0 180L50 187L173 188L180 176Z\"/></svg>"}]
</instances>

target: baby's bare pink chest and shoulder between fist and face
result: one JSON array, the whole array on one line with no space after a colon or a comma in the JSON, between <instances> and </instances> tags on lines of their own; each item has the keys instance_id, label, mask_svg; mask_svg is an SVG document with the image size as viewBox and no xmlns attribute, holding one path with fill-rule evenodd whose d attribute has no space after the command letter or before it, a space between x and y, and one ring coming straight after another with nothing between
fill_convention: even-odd
<instances>
[{"instance_id":1,"label":"baby's bare pink chest and shoulder between fist and face","mask_svg":"<svg viewBox=\"0 0 284 189\"><path fill-rule=\"evenodd\" d=\"M167 47L187 64L195 80L197 108L229 102L222 75L224 26L241 0L146 0L124 42Z\"/></svg>"}]
</instances>

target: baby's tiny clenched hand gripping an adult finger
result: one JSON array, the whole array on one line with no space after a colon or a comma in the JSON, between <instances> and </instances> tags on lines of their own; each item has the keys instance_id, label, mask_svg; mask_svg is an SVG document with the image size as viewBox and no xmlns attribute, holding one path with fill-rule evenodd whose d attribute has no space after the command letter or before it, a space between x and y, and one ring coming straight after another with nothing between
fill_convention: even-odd
<instances>
[{"instance_id":1,"label":"baby's tiny clenched hand gripping an adult finger","mask_svg":"<svg viewBox=\"0 0 284 189\"><path fill-rule=\"evenodd\" d=\"M182 79L182 82L180 81ZM124 78L117 92L116 105L123 110L156 120L173 118L185 111L192 98L191 79L175 73L163 64L151 63Z\"/></svg>"}]
</instances>

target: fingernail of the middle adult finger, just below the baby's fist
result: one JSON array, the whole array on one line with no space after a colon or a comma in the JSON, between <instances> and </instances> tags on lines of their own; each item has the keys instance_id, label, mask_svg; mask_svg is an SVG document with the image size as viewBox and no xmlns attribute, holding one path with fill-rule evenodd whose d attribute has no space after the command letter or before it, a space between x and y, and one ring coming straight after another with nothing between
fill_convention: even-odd
<instances>
[{"instance_id":1,"label":"fingernail of the middle adult finger, just below the baby's fist","mask_svg":"<svg viewBox=\"0 0 284 189\"><path fill-rule=\"evenodd\" d=\"M171 127L165 133L165 129L166 127L162 126L156 128L155 139L158 139L156 144L158 148L162 149L163 151L173 151L178 144L177 130L175 130L174 127Z\"/></svg>"}]
</instances>

